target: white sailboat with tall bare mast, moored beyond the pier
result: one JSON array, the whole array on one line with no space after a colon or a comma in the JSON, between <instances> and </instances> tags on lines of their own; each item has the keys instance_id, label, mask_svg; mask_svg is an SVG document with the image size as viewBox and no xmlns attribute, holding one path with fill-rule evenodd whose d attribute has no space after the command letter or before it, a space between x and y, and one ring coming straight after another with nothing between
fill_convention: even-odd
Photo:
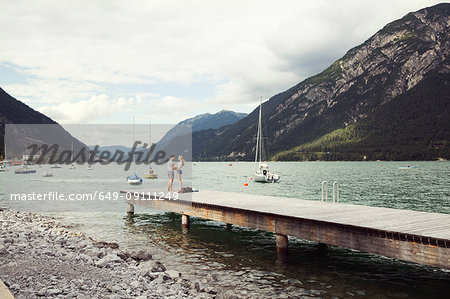
<instances>
[{"instance_id":1,"label":"white sailboat with tall bare mast, moored beyond the pier","mask_svg":"<svg viewBox=\"0 0 450 299\"><path fill-rule=\"evenodd\" d=\"M276 183L280 179L280 176L278 174L270 172L269 165L267 165L266 163L262 163L263 137L261 125L261 107L262 105L260 101L258 133L256 135L255 173L253 174L253 180L259 183Z\"/></svg>"}]
</instances>

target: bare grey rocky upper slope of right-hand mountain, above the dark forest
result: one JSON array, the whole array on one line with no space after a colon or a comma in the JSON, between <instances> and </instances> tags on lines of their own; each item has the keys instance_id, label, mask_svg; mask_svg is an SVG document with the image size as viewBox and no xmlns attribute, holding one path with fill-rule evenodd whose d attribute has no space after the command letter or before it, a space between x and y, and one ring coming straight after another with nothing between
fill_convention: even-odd
<instances>
[{"instance_id":1,"label":"bare grey rocky upper slope of right-hand mountain, above the dark forest","mask_svg":"<svg viewBox=\"0 0 450 299\"><path fill-rule=\"evenodd\" d=\"M438 66L448 67L450 4L411 12L263 103L271 153L312 142L365 119ZM258 110L225 129L193 134L196 160L251 160ZM209 138L209 140L205 140Z\"/></svg>"}]
</instances>

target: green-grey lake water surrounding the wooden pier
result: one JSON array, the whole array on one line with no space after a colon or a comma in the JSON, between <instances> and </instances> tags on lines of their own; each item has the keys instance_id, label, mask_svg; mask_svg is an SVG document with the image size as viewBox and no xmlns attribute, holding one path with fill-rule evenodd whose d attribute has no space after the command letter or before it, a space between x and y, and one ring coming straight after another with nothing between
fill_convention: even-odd
<instances>
[{"instance_id":1,"label":"green-grey lake water surrounding the wooden pier","mask_svg":"<svg viewBox=\"0 0 450 299\"><path fill-rule=\"evenodd\" d=\"M281 174L277 184L250 181L253 163L196 162L188 165L185 179L194 189L246 192L308 200L321 199L321 182L340 184L342 203L450 214L449 162L274 162ZM413 165L417 168L399 169ZM190 169L192 168L192 169ZM14 169L14 168L12 168ZM51 169L54 177L42 177L45 166L30 175L0 173L0 205L55 216L94 238L117 241L122 248L146 248L168 268L200 279L208 277L239 296L310 296L377 298L445 298L450 293L450 271L406 263L338 247L319 248L306 240L290 238L287 263L277 261L274 235L193 219L181 228L179 215L136 207L126 216L123 200L11 201L11 192L91 193L117 192L131 187L129 172L118 165L67 166ZM147 167L137 166L143 174ZM165 167L157 168L158 182L166 183ZM155 182L153 182L155 183ZM143 187L149 184L145 181Z\"/></svg>"}]
</instances>

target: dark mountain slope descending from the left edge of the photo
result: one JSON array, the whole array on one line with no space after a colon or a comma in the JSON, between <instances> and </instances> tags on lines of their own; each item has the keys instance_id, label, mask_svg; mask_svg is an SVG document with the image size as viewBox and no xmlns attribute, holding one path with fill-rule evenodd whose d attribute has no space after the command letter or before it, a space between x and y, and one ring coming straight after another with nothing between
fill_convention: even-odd
<instances>
[{"instance_id":1,"label":"dark mountain slope descending from the left edge of the photo","mask_svg":"<svg viewBox=\"0 0 450 299\"><path fill-rule=\"evenodd\" d=\"M0 156L4 155L5 125L16 125L7 134L7 157L21 155L31 144L58 144L61 149L79 151L87 146L44 114L16 100L0 88Z\"/></svg>"}]
</instances>

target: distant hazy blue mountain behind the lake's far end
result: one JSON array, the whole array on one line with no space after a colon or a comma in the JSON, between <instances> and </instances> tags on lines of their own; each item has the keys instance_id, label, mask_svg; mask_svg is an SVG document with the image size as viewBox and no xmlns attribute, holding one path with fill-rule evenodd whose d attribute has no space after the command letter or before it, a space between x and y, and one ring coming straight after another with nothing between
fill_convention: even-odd
<instances>
[{"instance_id":1,"label":"distant hazy blue mountain behind the lake's far end","mask_svg":"<svg viewBox=\"0 0 450 299\"><path fill-rule=\"evenodd\" d=\"M158 145L163 146L168 144L170 140L175 137L190 134L191 132L197 132L207 129L218 129L220 127L231 125L246 117L247 113L238 113L228 110L222 110L216 114L200 114L192 118L183 120L170 129L164 136L158 141Z\"/></svg>"}]
</instances>

